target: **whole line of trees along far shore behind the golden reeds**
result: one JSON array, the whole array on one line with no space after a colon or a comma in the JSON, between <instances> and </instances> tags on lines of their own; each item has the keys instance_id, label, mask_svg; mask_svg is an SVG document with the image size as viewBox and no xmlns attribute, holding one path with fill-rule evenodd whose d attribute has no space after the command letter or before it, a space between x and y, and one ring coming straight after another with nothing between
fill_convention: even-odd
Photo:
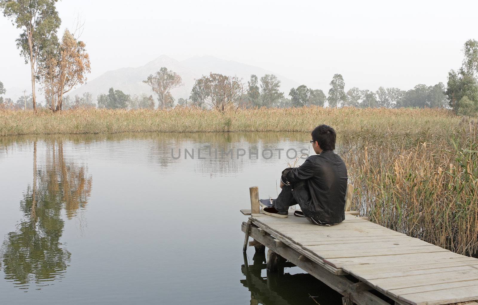
<instances>
[{"instance_id":1,"label":"whole line of trees along far shore behind the golden reeds","mask_svg":"<svg viewBox=\"0 0 478 305\"><path fill-rule=\"evenodd\" d=\"M21 33L16 40L17 48L25 63L30 65L32 94L12 101L3 98L6 93L0 82L0 108L33 109L38 106L35 85L41 84L47 109L95 107L92 96L65 96L74 87L84 84L90 72L86 44L79 40L83 24L78 22L74 31L65 30L61 39L57 31L61 19L56 11L57 0L0 0L0 9ZM254 107L359 107L359 108L445 108L456 114L475 115L478 112L478 42L468 40L463 48L464 59L458 70L448 73L446 87L443 83L434 86L416 85L408 91L399 88L379 87L376 91L352 87L345 91L342 75L335 74L330 82L327 95L321 89L301 85L291 88L288 95L281 92L281 81L277 76L266 74L259 78L251 75L247 83L237 76L210 73L195 80L189 98L179 98L177 103L171 94L174 88L184 86L181 76L162 67L160 71L147 76L143 83L151 87L152 95L130 96L120 89L110 88L108 93L97 98L98 108L153 109L153 95L159 109L176 105L216 109Z\"/></svg>"}]
</instances>

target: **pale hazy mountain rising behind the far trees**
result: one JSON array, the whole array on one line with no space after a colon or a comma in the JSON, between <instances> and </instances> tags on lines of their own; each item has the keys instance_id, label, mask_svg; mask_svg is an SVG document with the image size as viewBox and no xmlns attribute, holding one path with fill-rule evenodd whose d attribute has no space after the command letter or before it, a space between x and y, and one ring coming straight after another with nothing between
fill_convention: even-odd
<instances>
[{"instance_id":1,"label":"pale hazy mountain rising behind the far trees","mask_svg":"<svg viewBox=\"0 0 478 305\"><path fill-rule=\"evenodd\" d=\"M151 88L143 84L142 81L145 80L148 75L159 71L161 67L167 67L183 78L185 86L172 90L172 94L176 100L178 98L189 98L195 79L202 75L208 75L210 72L228 76L236 75L243 78L246 84L251 74L255 74L259 78L264 74L275 74L272 71L260 67L219 59L213 56L195 56L180 62L166 55L161 55L141 67L120 68L108 71L95 79L89 80L87 84L78 87L72 91L70 95L82 95L84 92L90 92L96 101L96 97L99 94L108 93L110 87L120 89L130 95L139 95L141 93L152 94ZM291 87L300 85L284 76L275 75L281 80L281 88L285 96L289 94Z\"/></svg>"}]
</instances>

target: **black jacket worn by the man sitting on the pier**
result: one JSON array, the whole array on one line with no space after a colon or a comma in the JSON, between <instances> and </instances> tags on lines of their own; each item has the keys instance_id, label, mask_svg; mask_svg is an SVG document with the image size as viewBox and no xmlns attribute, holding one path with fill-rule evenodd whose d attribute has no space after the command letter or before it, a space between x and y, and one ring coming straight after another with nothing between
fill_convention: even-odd
<instances>
[{"instance_id":1,"label":"black jacket worn by the man sitting on the pier","mask_svg":"<svg viewBox=\"0 0 478 305\"><path fill-rule=\"evenodd\" d=\"M293 196L306 216L329 224L345 219L347 167L333 151L309 156L299 167L286 168L281 180L293 186Z\"/></svg>"}]
</instances>

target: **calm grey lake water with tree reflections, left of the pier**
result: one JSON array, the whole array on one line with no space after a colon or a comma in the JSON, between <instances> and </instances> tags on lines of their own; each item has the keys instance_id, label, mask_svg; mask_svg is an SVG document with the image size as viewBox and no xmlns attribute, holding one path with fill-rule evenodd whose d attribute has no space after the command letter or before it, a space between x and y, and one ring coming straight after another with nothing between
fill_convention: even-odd
<instances>
[{"instance_id":1,"label":"calm grey lake water with tree reflections, left of the pier","mask_svg":"<svg viewBox=\"0 0 478 305\"><path fill-rule=\"evenodd\" d=\"M275 197L287 150L313 152L309 140L306 133L0 138L1 303L316 304L312 295L341 304L298 267L268 275L263 255L253 247L242 253L247 217L239 209L250 208L249 187Z\"/></svg>"}]
</instances>

